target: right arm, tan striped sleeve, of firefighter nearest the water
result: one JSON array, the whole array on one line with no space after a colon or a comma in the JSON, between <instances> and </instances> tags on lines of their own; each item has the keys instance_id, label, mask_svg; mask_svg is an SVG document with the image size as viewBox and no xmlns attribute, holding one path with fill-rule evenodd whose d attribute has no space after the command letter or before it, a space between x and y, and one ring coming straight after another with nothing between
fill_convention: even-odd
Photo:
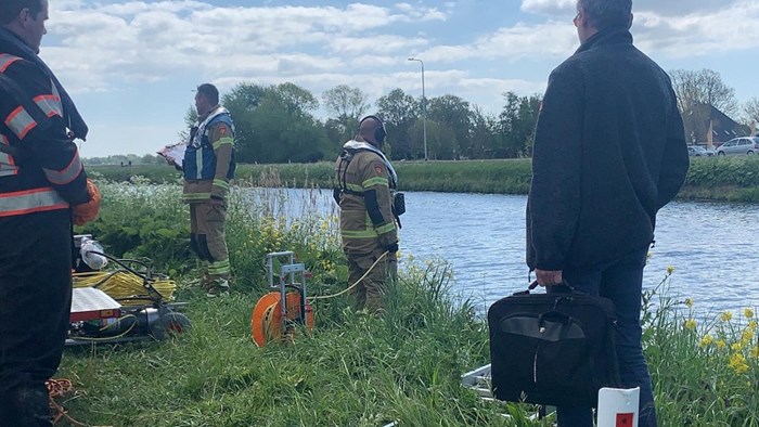
<instances>
[{"instance_id":1,"label":"right arm, tan striped sleeve, of firefighter nearest the water","mask_svg":"<svg viewBox=\"0 0 759 427\"><path fill-rule=\"evenodd\" d=\"M383 247L398 243L395 219L393 217L388 172L385 164L377 156L360 170L361 186L366 212L374 225Z\"/></svg>"}]
</instances>

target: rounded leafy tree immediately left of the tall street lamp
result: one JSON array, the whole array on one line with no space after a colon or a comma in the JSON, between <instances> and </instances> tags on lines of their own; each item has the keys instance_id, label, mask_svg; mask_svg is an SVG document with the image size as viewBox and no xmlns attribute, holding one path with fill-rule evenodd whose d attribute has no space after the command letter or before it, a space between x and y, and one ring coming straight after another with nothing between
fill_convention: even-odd
<instances>
[{"instance_id":1,"label":"rounded leafy tree immediately left of the tall street lamp","mask_svg":"<svg viewBox=\"0 0 759 427\"><path fill-rule=\"evenodd\" d=\"M377 107L387 128L387 140L393 144L393 158L424 158L422 138L411 139L409 134L409 128L420 117L419 102L402 89L394 89L377 100Z\"/></svg>"}]
</instances>

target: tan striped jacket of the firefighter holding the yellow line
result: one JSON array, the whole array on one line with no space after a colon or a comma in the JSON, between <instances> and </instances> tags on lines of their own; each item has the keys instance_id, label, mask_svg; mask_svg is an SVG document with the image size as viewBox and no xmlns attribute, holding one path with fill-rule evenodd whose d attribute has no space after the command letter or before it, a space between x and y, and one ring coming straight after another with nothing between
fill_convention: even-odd
<instances>
[{"instance_id":1,"label":"tan striped jacket of the firefighter holding the yellow line","mask_svg":"<svg viewBox=\"0 0 759 427\"><path fill-rule=\"evenodd\" d=\"M368 150L344 151L335 164L340 187L340 237L348 253L370 254L398 243L389 173Z\"/></svg>"}]
</instances>

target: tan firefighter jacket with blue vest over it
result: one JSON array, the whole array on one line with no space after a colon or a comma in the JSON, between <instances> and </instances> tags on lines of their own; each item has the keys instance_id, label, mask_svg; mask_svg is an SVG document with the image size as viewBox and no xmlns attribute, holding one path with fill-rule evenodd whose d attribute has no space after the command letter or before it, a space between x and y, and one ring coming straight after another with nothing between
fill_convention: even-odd
<instances>
[{"instance_id":1,"label":"tan firefighter jacket with blue vest over it","mask_svg":"<svg viewBox=\"0 0 759 427\"><path fill-rule=\"evenodd\" d=\"M211 109L207 124L193 128L184 152L185 203L208 202L211 197L227 199L230 180L234 178L234 122L227 111ZM203 124L209 115L198 118ZM201 132L195 135L195 132Z\"/></svg>"}]
</instances>

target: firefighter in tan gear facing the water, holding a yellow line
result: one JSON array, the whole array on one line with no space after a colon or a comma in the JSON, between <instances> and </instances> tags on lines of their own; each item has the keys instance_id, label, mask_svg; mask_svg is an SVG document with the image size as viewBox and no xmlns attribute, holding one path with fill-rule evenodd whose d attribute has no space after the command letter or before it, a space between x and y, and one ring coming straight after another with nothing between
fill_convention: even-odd
<instances>
[{"instance_id":1,"label":"firefighter in tan gear facing the water, holding a yellow line","mask_svg":"<svg viewBox=\"0 0 759 427\"><path fill-rule=\"evenodd\" d=\"M385 283L388 276L395 279L397 271L398 234L391 190L397 187L398 177L381 151L386 133L378 117L364 117L359 135L343 145L335 164L335 200L340 207L348 284L358 282L352 288L355 308L370 313L384 309Z\"/></svg>"}]
</instances>

